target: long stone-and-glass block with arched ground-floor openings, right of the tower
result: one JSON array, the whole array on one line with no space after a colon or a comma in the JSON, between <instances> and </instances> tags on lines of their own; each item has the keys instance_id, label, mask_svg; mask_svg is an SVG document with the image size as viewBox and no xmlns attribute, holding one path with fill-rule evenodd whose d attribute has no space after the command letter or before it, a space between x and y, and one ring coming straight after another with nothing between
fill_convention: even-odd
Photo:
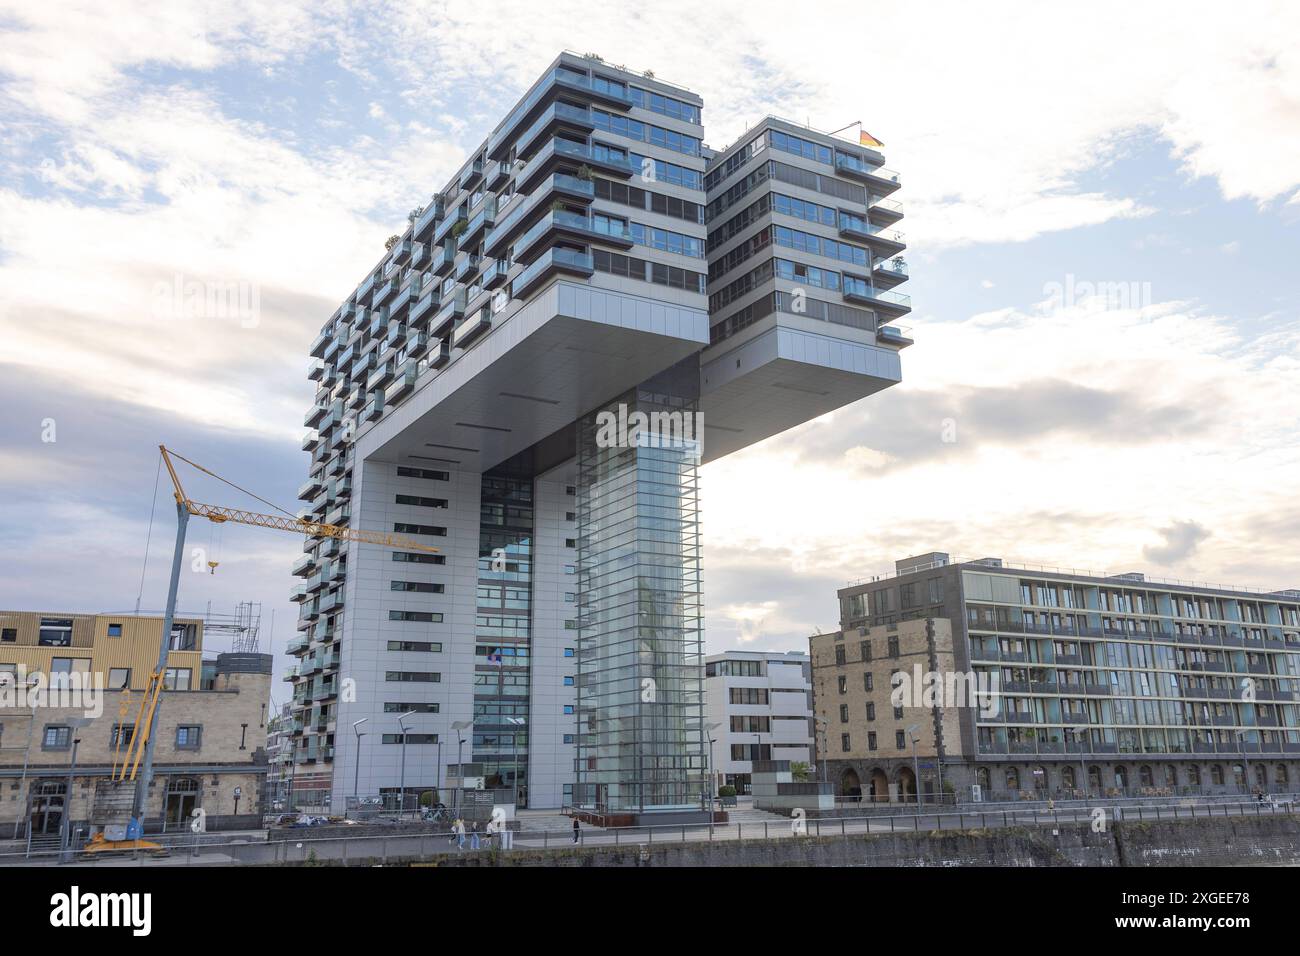
<instances>
[{"instance_id":1,"label":"long stone-and-glass block with arched ground-floor openings, right of the tower","mask_svg":"<svg viewBox=\"0 0 1300 956\"><path fill-rule=\"evenodd\" d=\"M933 760L922 763L920 791L931 796L940 786L968 800L975 787L982 799L1024 799L1273 792L1300 782L1300 591L935 551L838 598L840 633L811 641L816 710L832 726L838 687L855 688L862 674L888 685L896 670L911 672L909 656L974 675L966 687L997 688L994 709L967 695L962 706L940 698L890 710L896 739L875 730L878 749L866 752L868 702L845 700L848 747L836 753L832 732L824 749L842 793L906 796L894 786L911 760L900 722L922 727L919 750Z\"/></svg>"}]
</instances>

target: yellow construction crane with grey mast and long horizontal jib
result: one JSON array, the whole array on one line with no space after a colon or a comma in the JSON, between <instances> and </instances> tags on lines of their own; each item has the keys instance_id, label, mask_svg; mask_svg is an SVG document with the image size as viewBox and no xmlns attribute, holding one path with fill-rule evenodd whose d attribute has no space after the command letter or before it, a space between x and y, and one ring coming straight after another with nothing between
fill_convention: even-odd
<instances>
[{"instance_id":1,"label":"yellow construction crane with grey mast and long horizontal jib","mask_svg":"<svg viewBox=\"0 0 1300 956\"><path fill-rule=\"evenodd\" d=\"M307 535L308 537L333 537L339 541L360 541L363 544L382 545L386 548L408 548L417 551L437 553L438 550L437 548L429 548L419 541L413 541L400 535L390 535L384 531L364 531L361 528L348 528L338 524L308 522L306 519L296 518L283 509L272 505L265 498L257 498L257 496L252 492L239 488L239 485L233 481L229 481L216 472L204 468L202 464L178 455L165 445L159 445L159 453L162 455L162 463L166 466L168 475L172 477L172 485L174 486L173 497L176 498L177 527L176 551L172 555L172 580L168 585L166 610L162 613L162 636L159 641L157 666L153 672L150 674L148 684L146 685L144 696L140 700L139 711L135 717L135 723L131 726L131 736L127 744L126 756L122 758L121 763L117 762L118 753L114 753L113 756L113 777L109 782L108 791L104 795L104 803L105 805L112 804L114 806L125 805L125 801L121 799L122 795L120 793L121 784L134 783L135 791L131 799L130 816L127 817L125 831L122 834L114 832L112 835L105 832L95 834L91 838L91 842L86 845L87 853L105 851L161 849L159 844L142 839L144 834L144 801L148 796L150 780L153 777L153 744L156 740L153 731L157 727L159 709L162 704L166 656L172 636L172 619L176 615L176 597L181 585L181 563L185 557L185 531L186 524L190 520L190 515L207 518L209 522L214 522L217 524L235 522L238 524L251 524L257 528L290 531L299 535ZM252 498L257 498L257 501L276 509L277 511L282 511L283 514L269 515L259 511L248 511L246 509L207 505L204 502L195 501L185 493L181 477L176 473L176 466L172 462L173 458L179 462L185 462L190 467L202 471L204 475L209 475L211 477L214 477ZM209 568L216 567L213 562L208 562L208 564ZM127 704L124 700L124 713L126 706ZM117 748L118 750L121 749L121 734L118 735Z\"/></svg>"}]
</instances>

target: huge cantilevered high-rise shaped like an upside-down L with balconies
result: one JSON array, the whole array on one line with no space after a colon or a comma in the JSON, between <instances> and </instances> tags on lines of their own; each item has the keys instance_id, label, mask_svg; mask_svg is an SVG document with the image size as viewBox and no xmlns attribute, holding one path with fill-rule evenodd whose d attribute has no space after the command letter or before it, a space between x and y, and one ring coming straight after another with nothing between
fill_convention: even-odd
<instances>
[{"instance_id":1,"label":"huge cantilevered high-rise shaped like an upside-down L with balconies","mask_svg":"<svg viewBox=\"0 0 1300 956\"><path fill-rule=\"evenodd\" d=\"M307 541L298 803L464 763L520 805L701 806L698 468L907 343L883 157L776 120L715 155L701 111L560 55L312 343L302 514L439 551Z\"/></svg>"}]
</instances>

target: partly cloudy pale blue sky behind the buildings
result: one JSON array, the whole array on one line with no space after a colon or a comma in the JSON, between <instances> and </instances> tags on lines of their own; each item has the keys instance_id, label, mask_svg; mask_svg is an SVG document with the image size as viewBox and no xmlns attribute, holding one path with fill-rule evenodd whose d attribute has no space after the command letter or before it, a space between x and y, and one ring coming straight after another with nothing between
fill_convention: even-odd
<instances>
[{"instance_id":1,"label":"partly cloudy pale blue sky behind the buildings","mask_svg":"<svg viewBox=\"0 0 1300 956\"><path fill-rule=\"evenodd\" d=\"M1300 18L1134 7L0 0L0 606L134 606L160 441L295 510L309 341L562 48L698 91L715 147L861 120L904 177L905 382L705 470L711 650L928 550L1300 585ZM299 548L228 528L182 605L280 650Z\"/></svg>"}]
</instances>

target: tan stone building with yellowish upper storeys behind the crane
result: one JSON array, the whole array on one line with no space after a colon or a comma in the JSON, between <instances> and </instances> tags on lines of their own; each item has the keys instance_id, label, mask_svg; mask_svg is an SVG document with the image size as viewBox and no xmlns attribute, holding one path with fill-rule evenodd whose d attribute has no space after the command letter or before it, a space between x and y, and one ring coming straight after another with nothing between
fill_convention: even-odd
<instances>
[{"instance_id":1,"label":"tan stone building with yellowish upper storeys behind the crane","mask_svg":"<svg viewBox=\"0 0 1300 956\"><path fill-rule=\"evenodd\" d=\"M161 635L161 617L0 611L0 839L26 836L29 826L34 842L57 838L65 817L88 836L96 784L130 748ZM272 658L204 659L203 637L202 619L173 622L150 832L188 827L195 809L213 830L261 822ZM32 697L38 674L47 687L70 685L72 675L101 685L100 713L87 713L84 698Z\"/></svg>"}]
</instances>

